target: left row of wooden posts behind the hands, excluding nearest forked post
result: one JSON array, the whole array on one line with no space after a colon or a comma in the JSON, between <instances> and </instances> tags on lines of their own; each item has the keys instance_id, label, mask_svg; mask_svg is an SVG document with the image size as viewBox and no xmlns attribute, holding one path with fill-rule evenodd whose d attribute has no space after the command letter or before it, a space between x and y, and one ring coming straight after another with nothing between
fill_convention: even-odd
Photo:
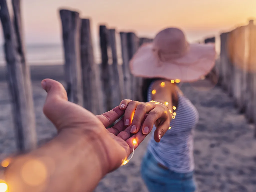
<instances>
[{"instance_id":1,"label":"left row of wooden posts behind the hands, excluding nearest forked post","mask_svg":"<svg viewBox=\"0 0 256 192\"><path fill-rule=\"evenodd\" d=\"M98 65L94 61L90 20L81 19L78 12L65 9L60 10L60 18L69 100L94 114L113 109L123 99L141 101L142 79L133 77L129 60L140 45L152 39L138 38L133 32L120 32L123 62L119 65L117 32L100 25L101 64Z\"/></svg>"}]
</instances>

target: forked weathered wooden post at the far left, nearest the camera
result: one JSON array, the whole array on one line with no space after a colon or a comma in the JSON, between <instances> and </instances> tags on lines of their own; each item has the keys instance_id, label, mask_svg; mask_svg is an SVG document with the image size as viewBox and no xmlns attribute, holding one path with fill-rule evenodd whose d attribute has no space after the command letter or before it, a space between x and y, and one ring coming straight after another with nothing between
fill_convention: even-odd
<instances>
[{"instance_id":1,"label":"forked weathered wooden post at the far left, nearest the camera","mask_svg":"<svg viewBox=\"0 0 256 192\"><path fill-rule=\"evenodd\" d=\"M13 10L15 16L14 25L18 43L16 42L15 32L6 0L0 0L0 6L0 19L5 39L4 48L7 63L7 81L13 102L17 148L22 152L26 152L36 148L37 137L31 82L28 72L29 69L25 62L22 44L20 2L13 1ZM20 60L20 57L23 57L23 62Z\"/></svg>"}]
</instances>

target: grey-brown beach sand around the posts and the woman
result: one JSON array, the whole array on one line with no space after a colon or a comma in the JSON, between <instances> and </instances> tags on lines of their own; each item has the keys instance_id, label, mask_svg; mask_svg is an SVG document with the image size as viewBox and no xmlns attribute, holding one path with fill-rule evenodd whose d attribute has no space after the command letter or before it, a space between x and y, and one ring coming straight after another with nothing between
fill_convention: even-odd
<instances>
[{"instance_id":1,"label":"grey-brown beach sand around the posts and the woman","mask_svg":"<svg viewBox=\"0 0 256 192\"><path fill-rule=\"evenodd\" d=\"M43 78L63 83L62 66L31 67L39 145L52 138L54 126L42 113L46 93L40 87ZM8 86L0 68L0 160L16 151ZM195 129L195 177L200 192L256 191L256 140L254 125L234 108L231 98L219 87L204 80L183 84L184 94L196 106L200 120ZM208 91L202 91L207 88ZM140 164L149 136L125 166L101 180L95 192L130 192L147 189L140 176Z\"/></svg>"}]
</instances>

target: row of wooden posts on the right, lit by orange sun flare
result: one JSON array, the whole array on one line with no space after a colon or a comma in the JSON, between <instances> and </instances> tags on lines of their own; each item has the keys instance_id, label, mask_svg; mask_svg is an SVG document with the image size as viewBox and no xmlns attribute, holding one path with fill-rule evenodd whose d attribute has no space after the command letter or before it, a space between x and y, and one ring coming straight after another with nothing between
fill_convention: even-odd
<instances>
[{"instance_id":1,"label":"row of wooden posts on the right, lit by orange sun flare","mask_svg":"<svg viewBox=\"0 0 256 192\"><path fill-rule=\"evenodd\" d=\"M256 123L256 26L253 20L220 35L219 85L234 99L238 111ZM242 128L242 127L241 127ZM256 131L255 131L256 137Z\"/></svg>"}]
</instances>

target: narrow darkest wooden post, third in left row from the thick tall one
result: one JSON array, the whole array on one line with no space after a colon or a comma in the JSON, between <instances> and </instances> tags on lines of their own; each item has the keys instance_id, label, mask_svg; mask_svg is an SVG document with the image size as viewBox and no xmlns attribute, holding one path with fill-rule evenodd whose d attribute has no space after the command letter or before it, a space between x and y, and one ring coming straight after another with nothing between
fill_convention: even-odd
<instances>
[{"instance_id":1,"label":"narrow darkest wooden post, third in left row from the thick tall one","mask_svg":"<svg viewBox=\"0 0 256 192\"><path fill-rule=\"evenodd\" d=\"M111 90L111 74L108 58L108 29L105 25L100 26L100 47L101 47L101 82L104 93L104 104L106 110L109 111L112 109L112 90Z\"/></svg>"}]
</instances>

